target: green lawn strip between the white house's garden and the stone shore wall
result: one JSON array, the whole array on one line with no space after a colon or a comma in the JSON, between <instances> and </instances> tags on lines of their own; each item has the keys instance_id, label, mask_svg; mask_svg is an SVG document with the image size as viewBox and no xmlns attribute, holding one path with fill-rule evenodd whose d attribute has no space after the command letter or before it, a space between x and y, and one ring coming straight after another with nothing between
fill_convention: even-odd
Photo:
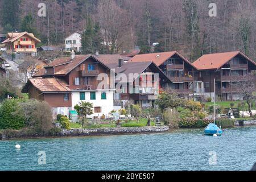
<instances>
[{"instance_id":1,"label":"green lawn strip between the white house's garden and the stone shore wall","mask_svg":"<svg viewBox=\"0 0 256 182\"><path fill-rule=\"evenodd\" d=\"M139 123L137 120L122 120L122 125L121 127L143 127L147 125L147 119L146 118L141 118L139 119ZM151 121L151 126L155 126L155 123ZM81 128L82 125L79 123L70 123L70 127L77 129ZM90 125L90 126L85 126L85 129L95 129L95 128L102 128L102 127L117 127L115 125L115 122L110 122L109 124L99 124L99 125Z\"/></svg>"}]
</instances>

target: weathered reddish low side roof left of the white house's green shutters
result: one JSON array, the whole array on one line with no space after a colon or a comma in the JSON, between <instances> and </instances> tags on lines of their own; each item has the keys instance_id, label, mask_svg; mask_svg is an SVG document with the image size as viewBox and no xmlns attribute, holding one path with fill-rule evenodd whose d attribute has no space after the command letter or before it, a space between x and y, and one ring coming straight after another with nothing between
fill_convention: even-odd
<instances>
[{"instance_id":1,"label":"weathered reddish low side roof left of the white house's green shutters","mask_svg":"<svg viewBox=\"0 0 256 182\"><path fill-rule=\"evenodd\" d=\"M71 92L67 87L67 82L57 78L31 78L22 89L23 93L27 93L30 85L35 86L40 92Z\"/></svg>"}]
</instances>

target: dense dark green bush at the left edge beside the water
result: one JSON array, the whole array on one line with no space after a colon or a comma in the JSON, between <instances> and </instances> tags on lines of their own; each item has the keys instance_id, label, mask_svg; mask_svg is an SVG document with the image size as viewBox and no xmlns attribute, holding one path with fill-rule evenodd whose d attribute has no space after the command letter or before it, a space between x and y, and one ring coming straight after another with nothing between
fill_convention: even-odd
<instances>
[{"instance_id":1,"label":"dense dark green bush at the left edge beside the water","mask_svg":"<svg viewBox=\"0 0 256 182\"><path fill-rule=\"evenodd\" d=\"M24 100L5 100L0 107L0 129L19 130L25 126L23 115L16 114L19 103Z\"/></svg>"}]
</instances>

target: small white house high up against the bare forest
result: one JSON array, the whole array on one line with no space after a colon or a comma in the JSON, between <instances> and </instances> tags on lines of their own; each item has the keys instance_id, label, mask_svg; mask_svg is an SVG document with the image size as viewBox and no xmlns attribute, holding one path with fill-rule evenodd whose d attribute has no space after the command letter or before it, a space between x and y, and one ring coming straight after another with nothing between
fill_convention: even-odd
<instances>
[{"instance_id":1,"label":"small white house high up against the bare forest","mask_svg":"<svg viewBox=\"0 0 256 182\"><path fill-rule=\"evenodd\" d=\"M76 52L81 52L82 51L82 32L76 31L73 34L67 36L65 38L65 51L66 52L71 52L76 51Z\"/></svg>"}]
</instances>

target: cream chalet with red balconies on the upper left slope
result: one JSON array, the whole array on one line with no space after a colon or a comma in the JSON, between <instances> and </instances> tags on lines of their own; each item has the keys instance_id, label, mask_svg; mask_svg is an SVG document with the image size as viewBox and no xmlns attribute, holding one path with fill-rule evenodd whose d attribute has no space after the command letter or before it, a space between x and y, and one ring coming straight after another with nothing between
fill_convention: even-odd
<instances>
[{"instance_id":1,"label":"cream chalet with red balconies on the upper left slope","mask_svg":"<svg viewBox=\"0 0 256 182\"><path fill-rule=\"evenodd\" d=\"M28 32L9 32L6 40L1 44L5 45L6 52L11 53L26 53L28 55L36 56L36 44L41 40L36 38L34 34Z\"/></svg>"}]
</instances>

